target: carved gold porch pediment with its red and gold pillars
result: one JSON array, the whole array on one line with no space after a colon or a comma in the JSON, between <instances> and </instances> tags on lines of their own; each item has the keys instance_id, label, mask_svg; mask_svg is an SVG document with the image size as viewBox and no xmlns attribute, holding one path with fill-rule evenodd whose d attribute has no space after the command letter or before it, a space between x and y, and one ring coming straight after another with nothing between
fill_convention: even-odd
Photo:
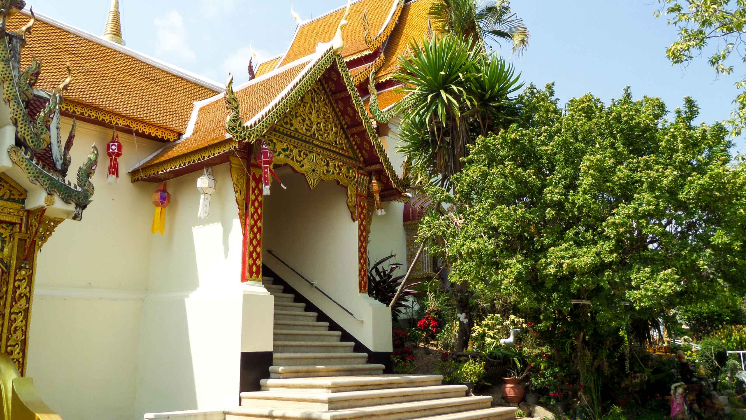
<instances>
[{"instance_id":1,"label":"carved gold porch pediment with its red and gold pillars","mask_svg":"<svg viewBox=\"0 0 746 420\"><path fill-rule=\"evenodd\" d=\"M264 140L275 154L274 164L287 164L306 177L313 190L319 182L336 181L347 189L351 219L359 223L359 290L367 291L368 238L372 204L369 200L369 174L363 171L360 151L345 132L345 123L333 106L322 80L307 91L254 145ZM254 176L257 173L257 176ZM251 174L251 176L248 176ZM260 176L254 164L231 156L236 204L245 235L245 274L242 280L261 280L263 198ZM255 179L256 178L256 179ZM248 220L245 220L245 214ZM245 277L243 277L245 276Z\"/></svg>"}]
</instances>

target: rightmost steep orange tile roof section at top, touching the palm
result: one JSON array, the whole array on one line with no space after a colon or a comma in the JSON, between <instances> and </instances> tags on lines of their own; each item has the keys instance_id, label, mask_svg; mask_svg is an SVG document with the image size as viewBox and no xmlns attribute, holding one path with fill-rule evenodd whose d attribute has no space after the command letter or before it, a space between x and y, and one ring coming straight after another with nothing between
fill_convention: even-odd
<instances>
[{"instance_id":1,"label":"rightmost steep orange tile roof section at top, touching the palm","mask_svg":"<svg viewBox=\"0 0 746 420\"><path fill-rule=\"evenodd\" d=\"M430 4L433 4L433 0L415 0L404 4L399 22L389 36L386 49L383 50L386 63L376 72L377 81L399 69L398 58L407 52L412 40L422 43L427 34L427 10L430 10Z\"/></svg>"}]
</instances>

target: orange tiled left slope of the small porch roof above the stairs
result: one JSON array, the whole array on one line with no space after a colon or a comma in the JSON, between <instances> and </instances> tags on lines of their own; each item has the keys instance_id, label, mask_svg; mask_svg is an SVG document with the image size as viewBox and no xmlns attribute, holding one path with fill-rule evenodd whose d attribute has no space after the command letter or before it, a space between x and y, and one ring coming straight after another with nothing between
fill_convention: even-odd
<instances>
[{"instance_id":1,"label":"orange tiled left slope of the small porch roof above the stairs","mask_svg":"<svg viewBox=\"0 0 746 420\"><path fill-rule=\"evenodd\" d=\"M304 61L268 78L254 79L256 80L255 82L236 91L242 120L251 120L251 118L266 108L307 65L308 61ZM225 101L222 99L222 96L213 102L203 105L199 108L192 135L181 141L181 143L158 153L145 162L145 164L142 164L142 167L149 167L171 158L176 158L186 153L220 143L226 138L225 117L227 116L228 111L225 109Z\"/></svg>"}]
</instances>

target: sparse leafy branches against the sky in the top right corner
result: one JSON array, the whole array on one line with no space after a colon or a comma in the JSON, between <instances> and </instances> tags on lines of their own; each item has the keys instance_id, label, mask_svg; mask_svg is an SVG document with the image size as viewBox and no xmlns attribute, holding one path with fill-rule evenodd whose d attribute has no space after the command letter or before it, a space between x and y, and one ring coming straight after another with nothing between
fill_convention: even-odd
<instances>
[{"instance_id":1,"label":"sparse leafy branches against the sky in the top right corner","mask_svg":"<svg viewBox=\"0 0 746 420\"><path fill-rule=\"evenodd\" d=\"M662 7L656 16L669 16L668 25L679 30L678 39L666 50L671 64L686 64L711 52L707 62L718 75L731 75L735 62L746 62L746 1L744 0L658 0ZM741 70L742 71L742 70ZM746 128L746 73L738 76L740 90L727 120L733 135L741 135Z\"/></svg>"}]
</instances>

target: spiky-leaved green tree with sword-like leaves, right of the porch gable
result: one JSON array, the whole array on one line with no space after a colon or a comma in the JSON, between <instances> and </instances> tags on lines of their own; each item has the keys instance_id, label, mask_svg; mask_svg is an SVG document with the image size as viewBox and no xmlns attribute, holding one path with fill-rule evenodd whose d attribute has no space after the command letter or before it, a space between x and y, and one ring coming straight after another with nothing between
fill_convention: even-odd
<instances>
[{"instance_id":1,"label":"spiky-leaved green tree with sword-like leaves, right of the porch gable","mask_svg":"<svg viewBox=\"0 0 746 420\"><path fill-rule=\"evenodd\" d=\"M413 182L448 188L463 167L466 146L478 134L507 126L513 93L523 84L510 64L473 51L466 37L445 35L412 43L395 78L408 93L400 150Z\"/></svg>"}]
</instances>

